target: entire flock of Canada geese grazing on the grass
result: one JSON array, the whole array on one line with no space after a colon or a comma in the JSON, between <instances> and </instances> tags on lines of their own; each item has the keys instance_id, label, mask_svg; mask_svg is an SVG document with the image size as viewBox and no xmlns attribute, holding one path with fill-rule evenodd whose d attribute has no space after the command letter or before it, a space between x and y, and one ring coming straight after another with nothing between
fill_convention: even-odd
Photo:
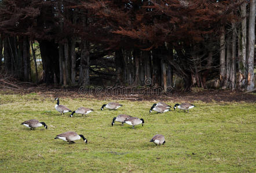
<instances>
[{"instance_id":1,"label":"entire flock of Canada geese grazing on the grass","mask_svg":"<svg viewBox=\"0 0 256 173\"><path fill-rule=\"evenodd\" d=\"M57 104L55 105L55 109L60 112L60 115L64 115L67 112L72 112L70 114L70 117L72 117L74 114L82 114L86 115L89 114L90 112L93 112L93 109L90 108L85 108L85 107L79 107L77 110L75 111L71 111L69 108L67 108L66 106L60 105L60 101L58 100L58 97L56 97L57 100ZM108 108L109 110L116 110L119 107L121 107L122 104L119 103L115 103L115 102L110 102L108 104L103 104L103 106L101 107L101 111L104 110L104 107ZM186 110L195 107L195 105L190 104L190 103L181 103L181 104L175 104L174 105L174 110L176 108L180 109L180 110L184 110L184 112ZM151 109L149 110L149 113L151 113L152 111L156 111L158 113L164 113L167 111L171 111L171 106L163 103L163 102L158 102L152 105ZM144 125L144 119L140 119L137 117L133 117L130 115L125 115L125 114L120 114L116 117L113 118L111 125L114 126L115 121L122 123L126 123L127 125L131 125L134 129L134 126L136 125ZM30 119L28 121L24 121L23 123L21 123L21 125L24 125L28 128L30 128L31 130L35 130L36 127L41 127L44 126L47 129L47 125L45 122L39 122L36 119ZM76 140L80 140L83 139L83 141L87 144L87 139L82 135L82 134L77 134L74 131L67 131L65 133L61 133L58 134L54 139L60 139L60 140L64 140L67 142L70 142L70 144L74 144ZM153 142L156 145L163 145L166 141L164 139L164 136L162 134L156 134L155 136L152 137L152 139L149 142Z\"/></svg>"}]
</instances>

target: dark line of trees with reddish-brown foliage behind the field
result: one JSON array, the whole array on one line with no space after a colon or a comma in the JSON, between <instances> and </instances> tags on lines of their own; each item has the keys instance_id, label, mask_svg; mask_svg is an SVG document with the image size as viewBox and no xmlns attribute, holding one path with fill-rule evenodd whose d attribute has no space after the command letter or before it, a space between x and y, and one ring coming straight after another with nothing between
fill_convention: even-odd
<instances>
[{"instance_id":1,"label":"dark line of trees with reddish-brown foliage behind the field","mask_svg":"<svg viewBox=\"0 0 256 173\"><path fill-rule=\"evenodd\" d=\"M60 85L254 89L255 0L0 1L0 63ZM2 62L2 57L4 61ZM36 76L38 72L36 70ZM107 81L107 82L106 82Z\"/></svg>"}]
</instances>

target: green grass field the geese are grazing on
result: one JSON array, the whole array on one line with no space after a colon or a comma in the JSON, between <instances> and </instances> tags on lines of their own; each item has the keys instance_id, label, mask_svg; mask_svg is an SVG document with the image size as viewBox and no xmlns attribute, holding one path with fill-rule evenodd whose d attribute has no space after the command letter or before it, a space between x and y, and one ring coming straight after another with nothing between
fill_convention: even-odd
<instances>
[{"instance_id":1,"label":"green grass field the geese are grazing on","mask_svg":"<svg viewBox=\"0 0 256 173\"><path fill-rule=\"evenodd\" d=\"M123 107L100 111L108 101ZM149 114L152 101L60 97L71 110L95 110L86 118L70 118L60 116L52 97L1 94L0 172L255 172L255 103L193 103L197 107L189 114ZM119 122L112 127L119 114L143 118L145 124L134 130ZM28 119L43 121L48 129L20 125ZM83 134L88 144L54 140L65 131ZM166 144L149 142L155 134L163 134Z\"/></svg>"}]
</instances>

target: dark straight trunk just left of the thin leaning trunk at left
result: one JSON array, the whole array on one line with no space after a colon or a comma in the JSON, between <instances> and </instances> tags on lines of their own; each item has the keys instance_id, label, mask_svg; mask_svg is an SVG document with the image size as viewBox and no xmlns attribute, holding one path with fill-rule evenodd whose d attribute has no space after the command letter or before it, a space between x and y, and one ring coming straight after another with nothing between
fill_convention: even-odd
<instances>
[{"instance_id":1,"label":"dark straight trunk just left of the thin leaning trunk at left","mask_svg":"<svg viewBox=\"0 0 256 173\"><path fill-rule=\"evenodd\" d=\"M28 54L28 39L27 37L23 37L23 64L24 64L24 69L23 69L23 74L24 74L24 81L29 81L30 80L30 70L29 70L29 54Z\"/></svg>"}]
</instances>

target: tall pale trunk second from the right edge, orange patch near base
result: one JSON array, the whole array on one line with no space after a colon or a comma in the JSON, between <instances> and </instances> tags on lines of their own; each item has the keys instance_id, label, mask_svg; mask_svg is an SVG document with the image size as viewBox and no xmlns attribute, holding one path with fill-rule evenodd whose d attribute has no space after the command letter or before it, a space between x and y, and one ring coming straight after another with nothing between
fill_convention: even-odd
<instances>
[{"instance_id":1,"label":"tall pale trunk second from the right edge, orange patch near base","mask_svg":"<svg viewBox=\"0 0 256 173\"><path fill-rule=\"evenodd\" d=\"M243 0L241 0L243 1ZM242 34L239 40L242 45L240 46L239 54L239 80L238 87L243 89L246 83L246 44L247 44L247 35L246 35L246 2L241 5L241 17L242 17Z\"/></svg>"}]
</instances>

